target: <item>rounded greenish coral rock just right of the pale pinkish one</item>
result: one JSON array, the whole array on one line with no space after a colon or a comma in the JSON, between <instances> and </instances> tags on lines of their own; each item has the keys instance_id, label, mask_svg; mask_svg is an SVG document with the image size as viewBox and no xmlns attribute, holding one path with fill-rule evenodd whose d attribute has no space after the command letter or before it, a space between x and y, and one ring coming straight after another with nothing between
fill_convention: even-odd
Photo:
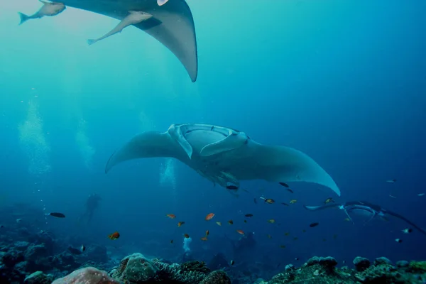
<instances>
[{"instance_id":1,"label":"rounded greenish coral rock just right of the pale pinkish one","mask_svg":"<svg viewBox=\"0 0 426 284\"><path fill-rule=\"evenodd\" d=\"M126 283L142 283L152 280L157 272L158 267L152 261L141 253L133 253L121 260L119 268L112 276Z\"/></svg>"}]
</instances>

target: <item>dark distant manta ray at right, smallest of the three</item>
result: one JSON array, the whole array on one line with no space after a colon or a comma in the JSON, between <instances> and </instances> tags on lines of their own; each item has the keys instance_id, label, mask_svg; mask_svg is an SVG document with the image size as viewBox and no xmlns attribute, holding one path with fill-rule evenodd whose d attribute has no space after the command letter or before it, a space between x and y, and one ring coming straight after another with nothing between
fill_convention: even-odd
<instances>
[{"instance_id":1,"label":"dark distant manta ray at right, smallest of the three","mask_svg":"<svg viewBox=\"0 0 426 284\"><path fill-rule=\"evenodd\" d=\"M322 205L322 206L306 206L306 205L303 205L303 207L305 207L305 209L310 210L310 211L318 211L318 210L328 209L328 208L342 209L342 210L344 210L345 214L347 215L347 217L349 218L349 220L351 220L351 222L353 224L355 224L355 223L351 218L351 214L356 214L356 213L364 213L365 214L365 213L367 213L369 215L369 219L367 220L367 222L365 224L370 222L375 217L381 217L383 219L386 219L386 217L388 217L388 216L393 216L393 217L401 219L404 222L410 224L415 229L420 231L420 233L426 235L426 231L424 229L420 228L420 226L417 226L416 224L414 224L413 222L411 222L407 218L401 216L400 214L397 214L397 213L392 212L388 209L384 209L383 207L381 207L379 205L371 204L371 203L366 202L366 201L351 201L351 202L346 202L346 203L343 203L343 204L327 204L327 205Z\"/></svg>"}]
</instances>

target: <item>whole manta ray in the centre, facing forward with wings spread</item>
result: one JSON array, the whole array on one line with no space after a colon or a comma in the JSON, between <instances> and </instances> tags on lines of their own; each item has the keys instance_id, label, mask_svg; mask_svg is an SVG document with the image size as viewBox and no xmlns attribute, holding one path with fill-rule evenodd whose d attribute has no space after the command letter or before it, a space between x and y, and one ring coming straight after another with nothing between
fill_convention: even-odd
<instances>
[{"instance_id":1,"label":"whole manta ray in the centre, facing forward with wings spread","mask_svg":"<svg viewBox=\"0 0 426 284\"><path fill-rule=\"evenodd\" d=\"M164 133L138 134L111 155L105 172L125 160L153 157L176 158L222 187L257 179L315 182L340 195L334 180L305 153L262 145L244 132L210 124L172 124Z\"/></svg>"}]
</instances>

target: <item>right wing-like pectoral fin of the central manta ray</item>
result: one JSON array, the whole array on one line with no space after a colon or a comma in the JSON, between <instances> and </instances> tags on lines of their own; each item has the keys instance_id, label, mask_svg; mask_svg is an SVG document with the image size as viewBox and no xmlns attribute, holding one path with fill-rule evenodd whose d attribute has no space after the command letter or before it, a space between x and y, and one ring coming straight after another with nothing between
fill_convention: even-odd
<instances>
[{"instance_id":1,"label":"right wing-like pectoral fin of the central manta ray","mask_svg":"<svg viewBox=\"0 0 426 284\"><path fill-rule=\"evenodd\" d=\"M310 156L285 146L265 146L253 141L253 176L273 182L313 182L340 196L339 187Z\"/></svg>"}]
</instances>

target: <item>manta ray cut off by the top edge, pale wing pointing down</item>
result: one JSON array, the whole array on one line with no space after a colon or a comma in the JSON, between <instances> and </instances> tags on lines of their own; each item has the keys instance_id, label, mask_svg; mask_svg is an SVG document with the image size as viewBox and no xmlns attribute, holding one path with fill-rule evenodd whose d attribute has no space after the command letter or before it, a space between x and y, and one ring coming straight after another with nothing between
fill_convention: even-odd
<instances>
[{"instance_id":1,"label":"manta ray cut off by the top edge, pale wing pointing down","mask_svg":"<svg viewBox=\"0 0 426 284\"><path fill-rule=\"evenodd\" d=\"M163 43L185 66L192 82L197 80L197 40L194 19L185 0L168 1L163 6L158 6L156 0L58 1L65 6L100 13L119 20L129 15L129 11L150 13L153 15L152 18L134 26Z\"/></svg>"}]
</instances>

